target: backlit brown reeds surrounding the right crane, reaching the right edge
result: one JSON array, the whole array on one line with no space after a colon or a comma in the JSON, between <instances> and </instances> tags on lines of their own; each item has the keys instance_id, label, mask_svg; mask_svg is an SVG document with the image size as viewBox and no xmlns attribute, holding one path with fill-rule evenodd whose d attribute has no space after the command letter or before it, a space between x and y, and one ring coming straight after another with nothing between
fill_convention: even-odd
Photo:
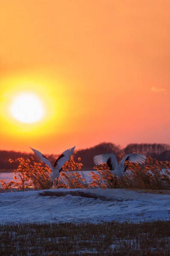
<instances>
[{"instance_id":1,"label":"backlit brown reeds surrounding the right crane, reaching the right edge","mask_svg":"<svg viewBox=\"0 0 170 256\"><path fill-rule=\"evenodd\" d=\"M95 172L92 172L91 186L113 188L114 183L117 182L117 188L170 189L169 161L158 161L148 157L144 166L128 161L126 165L128 171L118 180L112 176L107 164L95 166L98 174L95 175Z\"/></svg>"}]
</instances>

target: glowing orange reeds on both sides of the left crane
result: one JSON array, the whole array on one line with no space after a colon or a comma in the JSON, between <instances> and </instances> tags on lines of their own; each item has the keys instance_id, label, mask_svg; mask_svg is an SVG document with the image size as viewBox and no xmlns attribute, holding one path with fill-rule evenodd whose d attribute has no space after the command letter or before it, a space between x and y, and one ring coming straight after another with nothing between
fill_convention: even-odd
<instances>
[{"instance_id":1,"label":"glowing orange reeds on both sides of the left crane","mask_svg":"<svg viewBox=\"0 0 170 256\"><path fill-rule=\"evenodd\" d=\"M78 158L78 163L75 162L74 157L71 156L63 166L60 179L58 182L59 188L77 188L82 187L85 179L79 172L70 172L72 170L81 170L81 159ZM13 163L12 159L9 159ZM24 160L22 157L17 159L18 167L14 170L14 181L5 182L0 179L1 188L5 190L10 189L49 189L51 187L51 178L48 166L42 166L41 163L35 162L34 158Z\"/></svg>"}]
</instances>

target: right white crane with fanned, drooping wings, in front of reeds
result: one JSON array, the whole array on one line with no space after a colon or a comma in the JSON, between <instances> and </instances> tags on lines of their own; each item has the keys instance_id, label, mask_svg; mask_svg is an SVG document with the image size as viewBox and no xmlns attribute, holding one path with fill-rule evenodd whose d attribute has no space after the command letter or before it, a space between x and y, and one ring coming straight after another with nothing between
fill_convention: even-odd
<instances>
[{"instance_id":1,"label":"right white crane with fanned, drooping wings, in front of reeds","mask_svg":"<svg viewBox=\"0 0 170 256\"><path fill-rule=\"evenodd\" d=\"M110 171L114 176L121 177L121 175L126 172L127 166L124 166L126 160L132 163L144 163L146 160L146 156L142 154L128 154L124 157L118 165L118 161L115 157L115 154L100 154L93 158L95 165L100 165L101 163L107 163ZM116 185L116 183L115 183Z\"/></svg>"}]
</instances>

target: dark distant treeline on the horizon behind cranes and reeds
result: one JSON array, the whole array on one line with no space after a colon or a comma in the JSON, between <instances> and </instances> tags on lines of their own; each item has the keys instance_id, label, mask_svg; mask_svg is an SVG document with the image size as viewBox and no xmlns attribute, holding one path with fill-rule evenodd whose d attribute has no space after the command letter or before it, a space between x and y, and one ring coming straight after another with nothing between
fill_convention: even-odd
<instances>
[{"instance_id":1,"label":"dark distant treeline on the horizon behind cranes and reeds","mask_svg":"<svg viewBox=\"0 0 170 256\"><path fill-rule=\"evenodd\" d=\"M81 163L83 163L83 169L92 169L94 166L93 157L97 154L114 153L117 156L118 161L129 153L139 153L147 156L154 157L158 160L165 161L170 160L170 145L168 144L148 144L148 143L132 143L125 148L121 148L119 145L113 143L100 143L94 147L86 148L75 151L75 159L81 157ZM35 161L39 161L34 154L0 150L0 171L7 172L17 168L17 158L23 157L24 159L34 157ZM50 154L46 155L51 163L55 163L58 155ZM9 163L9 159L14 160L14 163Z\"/></svg>"}]
</instances>

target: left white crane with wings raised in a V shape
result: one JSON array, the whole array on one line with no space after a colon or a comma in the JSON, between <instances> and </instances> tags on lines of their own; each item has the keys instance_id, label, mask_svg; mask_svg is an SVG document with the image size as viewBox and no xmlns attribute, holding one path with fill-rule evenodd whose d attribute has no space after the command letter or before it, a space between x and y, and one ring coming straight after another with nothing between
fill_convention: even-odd
<instances>
[{"instance_id":1,"label":"left white crane with wings raised in a V shape","mask_svg":"<svg viewBox=\"0 0 170 256\"><path fill-rule=\"evenodd\" d=\"M48 165L49 168L52 170L50 174L50 177L52 179L52 185L55 183L55 179L57 179L56 185L58 185L58 178L60 176L60 172L62 171L62 166L64 163L66 163L67 160L69 160L70 156L73 154L75 146L73 148L68 148L67 150L63 151L63 153L55 161L54 167L52 167L52 164L50 163L48 158L45 157L40 151L34 148L31 149L35 153L35 155L39 157L40 160L43 161L46 165Z\"/></svg>"}]
</instances>

